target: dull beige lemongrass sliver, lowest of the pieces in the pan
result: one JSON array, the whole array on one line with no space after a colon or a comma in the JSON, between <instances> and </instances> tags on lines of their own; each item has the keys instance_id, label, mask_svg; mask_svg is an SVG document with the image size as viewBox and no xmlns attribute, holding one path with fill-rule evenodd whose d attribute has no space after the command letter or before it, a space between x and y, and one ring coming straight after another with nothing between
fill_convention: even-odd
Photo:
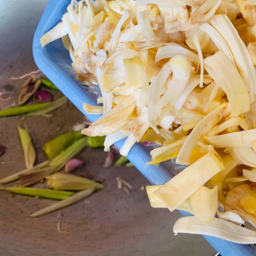
<instances>
[{"instance_id":1,"label":"dull beige lemongrass sliver, lowest of the pieces in the pan","mask_svg":"<svg viewBox=\"0 0 256 256\"><path fill-rule=\"evenodd\" d=\"M46 213L59 210L60 208L66 207L70 204L74 204L74 203L84 199L85 197L90 196L93 193L93 191L94 191L94 188L89 188L89 189L79 191L76 194L74 194L73 196L69 196L68 198L66 198L66 199L64 199L60 202L52 204L48 207L45 207L42 210L39 210L38 212L35 212L35 213L31 214L30 217L41 216L41 215L44 215Z\"/></svg>"}]
</instances>

